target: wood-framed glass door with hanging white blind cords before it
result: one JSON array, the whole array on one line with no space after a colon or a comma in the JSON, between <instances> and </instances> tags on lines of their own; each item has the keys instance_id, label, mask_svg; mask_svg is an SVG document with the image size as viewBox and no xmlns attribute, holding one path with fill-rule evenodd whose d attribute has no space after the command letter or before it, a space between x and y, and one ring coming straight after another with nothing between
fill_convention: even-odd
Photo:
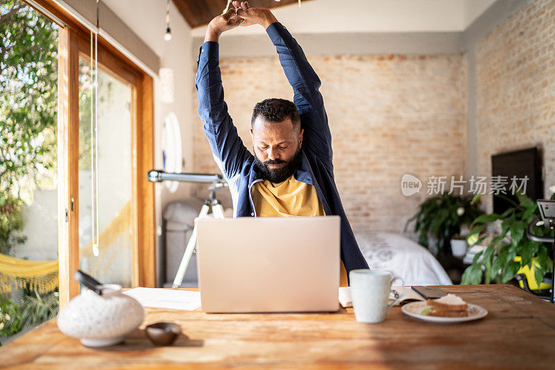
<instances>
[{"instance_id":1,"label":"wood-framed glass door with hanging white blind cords before it","mask_svg":"<svg viewBox=\"0 0 555 370\"><path fill-rule=\"evenodd\" d=\"M153 77L51 1L44 7L60 26L60 307L79 294L77 269L103 283L155 287L154 187L146 178L154 165ZM99 66L95 99L93 49Z\"/></svg>"}]
</instances>

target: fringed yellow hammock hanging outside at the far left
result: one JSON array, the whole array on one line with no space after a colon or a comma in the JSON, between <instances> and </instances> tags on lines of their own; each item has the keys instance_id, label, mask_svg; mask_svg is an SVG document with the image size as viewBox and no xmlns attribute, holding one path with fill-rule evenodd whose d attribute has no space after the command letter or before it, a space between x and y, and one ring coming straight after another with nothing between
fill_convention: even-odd
<instances>
[{"instance_id":1,"label":"fringed yellow hammock hanging outside at the far left","mask_svg":"<svg viewBox=\"0 0 555 370\"><path fill-rule=\"evenodd\" d=\"M39 293L58 287L58 261L19 260L0 253L0 293L26 287Z\"/></svg>"}]
</instances>

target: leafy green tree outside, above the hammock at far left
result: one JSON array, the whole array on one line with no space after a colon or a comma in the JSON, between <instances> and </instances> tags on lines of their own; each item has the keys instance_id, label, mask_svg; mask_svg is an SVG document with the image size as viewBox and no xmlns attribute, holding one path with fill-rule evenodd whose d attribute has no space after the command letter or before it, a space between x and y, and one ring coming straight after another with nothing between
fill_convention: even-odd
<instances>
[{"instance_id":1,"label":"leafy green tree outside, above the hammock at far left","mask_svg":"<svg viewBox=\"0 0 555 370\"><path fill-rule=\"evenodd\" d=\"M19 0L0 1L0 191L56 165L58 26Z\"/></svg>"}]
</instances>

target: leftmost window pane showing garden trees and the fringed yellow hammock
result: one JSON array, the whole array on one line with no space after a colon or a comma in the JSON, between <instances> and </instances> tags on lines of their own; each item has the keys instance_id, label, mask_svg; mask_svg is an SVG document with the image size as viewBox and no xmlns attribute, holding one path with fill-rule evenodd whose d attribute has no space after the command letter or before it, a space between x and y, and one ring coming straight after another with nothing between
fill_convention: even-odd
<instances>
[{"instance_id":1,"label":"leftmost window pane showing garden trees and the fringed yellow hammock","mask_svg":"<svg viewBox=\"0 0 555 370\"><path fill-rule=\"evenodd\" d=\"M11 315L0 312L1 336L58 310L58 26L0 1L0 39L0 295Z\"/></svg>"}]
</instances>

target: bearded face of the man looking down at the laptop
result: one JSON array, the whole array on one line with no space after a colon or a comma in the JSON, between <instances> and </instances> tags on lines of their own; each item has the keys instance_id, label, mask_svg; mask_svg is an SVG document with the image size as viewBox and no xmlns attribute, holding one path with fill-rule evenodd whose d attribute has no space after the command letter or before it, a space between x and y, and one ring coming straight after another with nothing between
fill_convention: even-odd
<instances>
[{"instance_id":1,"label":"bearded face of the man looking down at the laptop","mask_svg":"<svg viewBox=\"0 0 555 370\"><path fill-rule=\"evenodd\" d=\"M287 180L300 166L300 133L287 118L281 122L266 122L257 117L250 135L253 137L256 165L272 183Z\"/></svg>"}]
</instances>

